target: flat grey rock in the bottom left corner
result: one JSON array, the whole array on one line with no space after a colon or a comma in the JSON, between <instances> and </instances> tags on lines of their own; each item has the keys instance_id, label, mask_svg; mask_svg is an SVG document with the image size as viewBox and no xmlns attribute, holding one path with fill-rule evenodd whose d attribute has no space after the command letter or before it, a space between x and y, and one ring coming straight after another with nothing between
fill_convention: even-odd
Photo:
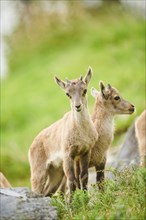
<instances>
[{"instance_id":1,"label":"flat grey rock in the bottom left corner","mask_svg":"<svg viewBox=\"0 0 146 220\"><path fill-rule=\"evenodd\" d=\"M57 211L51 198L36 195L29 188L0 189L0 219L55 220Z\"/></svg>"}]
</instances>

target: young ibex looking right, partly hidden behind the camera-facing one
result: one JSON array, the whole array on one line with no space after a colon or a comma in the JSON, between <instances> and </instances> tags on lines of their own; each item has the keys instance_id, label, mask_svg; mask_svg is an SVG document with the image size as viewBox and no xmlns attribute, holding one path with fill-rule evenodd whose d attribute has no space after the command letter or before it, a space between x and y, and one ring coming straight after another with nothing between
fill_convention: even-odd
<instances>
[{"instance_id":1,"label":"young ibex looking right, partly hidden behind the camera-facing one","mask_svg":"<svg viewBox=\"0 0 146 220\"><path fill-rule=\"evenodd\" d=\"M132 114L134 106L124 100L117 89L110 84L105 87L100 82L100 92L92 88L91 94L96 99L92 120L99 136L91 151L89 167L95 167L97 172L96 181L99 188L102 188L100 183L104 180L106 153L114 134L114 116L117 114Z\"/></svg>"}]
</instances>

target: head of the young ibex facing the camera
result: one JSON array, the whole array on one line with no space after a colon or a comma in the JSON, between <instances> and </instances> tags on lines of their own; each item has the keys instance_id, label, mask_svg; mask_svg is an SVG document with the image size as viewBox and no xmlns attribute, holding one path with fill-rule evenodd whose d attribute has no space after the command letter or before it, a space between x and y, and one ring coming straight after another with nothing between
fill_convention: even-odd
<instances>
[{"instance_id":1,"label":"head of the young ibex facing the camera","mask_svg":"<svg viewBox=\"0 0 146 220\"><path fill-rule=\"evenodd\" d=\"M71 100L73 110L80 112L84 107L87 107L86 93L88 84L92 77L92 69L89 67L86 76L82 76L76 80L60 80L55 76L56 83L65 91L66 95Z\"/></svg>"}]
</instances>

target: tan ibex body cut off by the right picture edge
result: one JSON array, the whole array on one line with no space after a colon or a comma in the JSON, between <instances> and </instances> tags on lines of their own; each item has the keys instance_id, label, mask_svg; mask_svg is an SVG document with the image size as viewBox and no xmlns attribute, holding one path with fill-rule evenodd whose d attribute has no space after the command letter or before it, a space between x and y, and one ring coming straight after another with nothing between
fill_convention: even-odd
<instances>
[{"instance_id":1,"label":"tan ibex body cut off by the right picture edge","mask_svg":"<svg viewBox=\"0 0 146 220\"><path fill-rule=\"evenodd\" d=\"M146 110L136 120L135 132L140 154L140 165L146 167Z\"/></svg>"}]
</instances>

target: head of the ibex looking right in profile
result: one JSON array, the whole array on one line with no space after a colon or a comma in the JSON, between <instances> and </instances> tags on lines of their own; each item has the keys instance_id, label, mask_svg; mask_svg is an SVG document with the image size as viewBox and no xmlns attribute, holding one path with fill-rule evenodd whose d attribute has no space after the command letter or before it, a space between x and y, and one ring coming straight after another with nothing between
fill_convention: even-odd
<instances>
[{"instance_id":1,"label":"head of the ibex looking right in profile","mask_svg":"<svg viewBox=\"0 0 146 220\"><path fill-rule=\"evenodd\" d=\"M99 87L100 92L92 87L91 94L96 99L100 97L107 110L112 114L132 114L134 112L134 105L123 99L116 88L110 84L105 86L102 81L100 81Z\"/></svg>"}]
</instances>

